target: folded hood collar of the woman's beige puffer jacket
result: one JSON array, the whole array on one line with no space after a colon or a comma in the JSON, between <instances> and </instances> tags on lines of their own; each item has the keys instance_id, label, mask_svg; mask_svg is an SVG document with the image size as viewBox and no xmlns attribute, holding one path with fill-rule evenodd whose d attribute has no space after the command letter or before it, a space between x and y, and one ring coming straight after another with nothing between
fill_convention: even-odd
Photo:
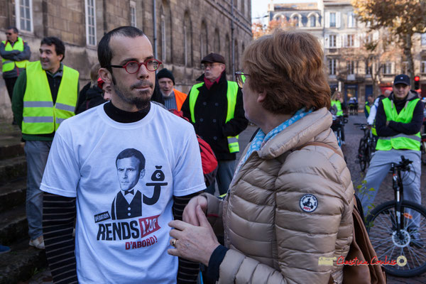
<instances>
[{"instance_id":1,"label":"folded hood collar of the woman's beige puffer jacket","mask_svg":"<svg viewBox=\"0 0 426 284\"><path fill-rule=\"evenodd\" d=\"M299 146L305 145L332 126L332 114L323 107L288 126L261 148L258 155L271 159Z\"/></svg>"}]
</instances>

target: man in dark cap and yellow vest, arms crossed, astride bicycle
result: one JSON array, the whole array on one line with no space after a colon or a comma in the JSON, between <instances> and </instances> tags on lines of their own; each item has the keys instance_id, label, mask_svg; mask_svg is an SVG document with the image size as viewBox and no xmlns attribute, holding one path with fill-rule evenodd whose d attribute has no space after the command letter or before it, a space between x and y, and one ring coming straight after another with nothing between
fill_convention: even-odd
<instances>
[{"instance_id":1,"label":"man in dark cap and yellow vest, arms crossed, astride bicycle","mask_svg":"<svg viewBox=\"0 0 426 284\"><path fill-rule=\"evenodd\" d=\"M424 106L417 92L410 90L410 87L410 77L404 74L397 75L393 81L391 95L378 103L376 153L366 174L366 191L360 195L364 212L371 210L378 188L391 169L391 163L399 163L401 155L413 161L410 172L403 174L404 200L421 204L420 129ZM374 190L369 191L371 188ZM417 217L414 218L417 222ZM412 238L417 237L415 233L412 234Z\"/></svg>"}]
</instances>

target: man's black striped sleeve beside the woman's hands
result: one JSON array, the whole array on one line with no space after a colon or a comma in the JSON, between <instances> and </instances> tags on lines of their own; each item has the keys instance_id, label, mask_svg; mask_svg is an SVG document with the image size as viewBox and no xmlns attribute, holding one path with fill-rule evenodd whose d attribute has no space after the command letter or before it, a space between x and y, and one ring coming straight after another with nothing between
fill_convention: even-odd
<instances>
[{"instance_id":1,"label":"man's black striped sleeve beside the woman's hands","mask_svg":"<svg viewBox=\"0 0 426 284\"><path fill-rule=\"evenodd\" d=\"M202 191L195 192L192 195L173 196L173 217L175 220L182 220L183 209L190 202L192 197L200 195ZM178 284L196 284L198 273L200 272L200 263L187 261L179 258Z\"/></svg>"}]
</instances>

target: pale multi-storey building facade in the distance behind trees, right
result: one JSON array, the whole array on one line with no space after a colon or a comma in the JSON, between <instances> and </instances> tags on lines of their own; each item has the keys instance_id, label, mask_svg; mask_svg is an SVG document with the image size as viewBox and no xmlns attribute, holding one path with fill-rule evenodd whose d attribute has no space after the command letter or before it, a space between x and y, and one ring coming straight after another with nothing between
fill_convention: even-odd
<instances>
[{"instance_id":1,"label":"pale multi-storey building facade in the distance behind trees, right","mask_svg":"<svg viewBox=\"0 0 426 284\"><path fill-rule=\"evenodd\" d=\"M408 64L402 53L372 60L364 48L366 43L380 43L386 37L383 31L369 31L365 23L357 21L350 0L317 0L312 3L270 4L269 19L285 17L298 21L297 29L317 36L324 47L324 62L332 90L339 89L347 101L357 97L360 107L368 95L377 96L391 89L393 78L408 74ZM315 19L315 24L314 24ZM426 97L426 34L417 34L413 40L415 75L420 76L422 97ZM379 84L373 87L378 73ZM414 86L413 86L414 87Z\"/></svg>"}]
</instances>

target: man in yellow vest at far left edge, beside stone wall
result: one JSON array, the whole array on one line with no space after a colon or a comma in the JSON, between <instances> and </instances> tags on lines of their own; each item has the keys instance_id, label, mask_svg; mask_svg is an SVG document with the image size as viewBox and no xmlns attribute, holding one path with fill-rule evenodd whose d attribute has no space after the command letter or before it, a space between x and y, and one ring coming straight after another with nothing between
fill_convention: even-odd
<instances>
[{"instance_id":1,"label":"man in yellow vest at far left edge, beside stone wall","mask_svg":"<svg viewBox=\"0 0 426 284\"><path fill-rule=\"evenodd\" d=\"M3 40L0 44L0 55L3 63L3 79L12 102L13 86L18 76L25 70L31 50L28 44L18 36L18 29L14 26L7 28L6 38L7 40Z\"/></svg>"}]
</instances>

